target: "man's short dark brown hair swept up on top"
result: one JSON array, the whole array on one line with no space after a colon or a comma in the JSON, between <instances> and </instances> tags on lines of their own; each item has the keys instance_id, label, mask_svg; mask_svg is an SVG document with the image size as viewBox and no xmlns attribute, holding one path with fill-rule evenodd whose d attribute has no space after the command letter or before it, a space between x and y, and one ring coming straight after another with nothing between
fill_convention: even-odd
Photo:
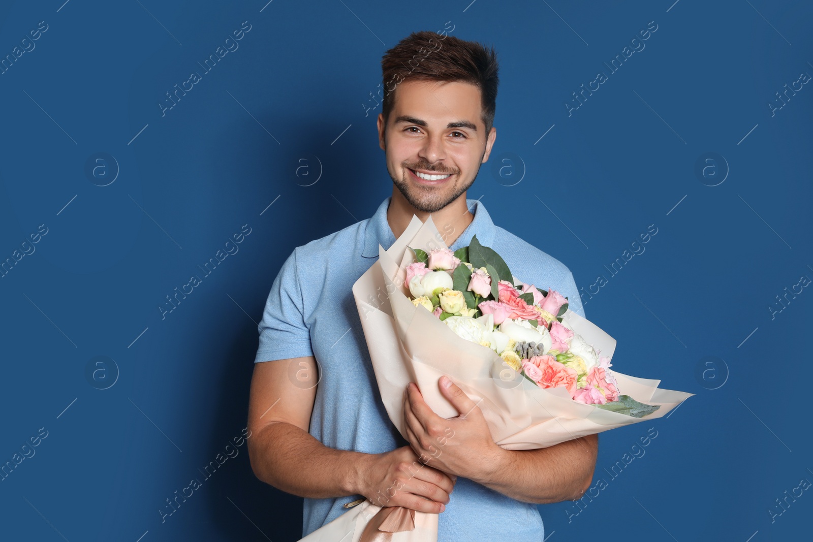
<instances>
[{"instance_id":1,"label":"man's short dark brown hair swept up on top","mask_svg":"<svg viewBox=\"0 0 813 542\"><path fill-rule=\"evenodd\" d=\"M441 37L428 31L411 33L381 58L384 124L386 126L393 110L398 83L404 80L460 81L480 89L482 120L488 135L497 109L498 69L493 47L489 50L476 41L448 35Z\"/></svg>"}]
</instances>

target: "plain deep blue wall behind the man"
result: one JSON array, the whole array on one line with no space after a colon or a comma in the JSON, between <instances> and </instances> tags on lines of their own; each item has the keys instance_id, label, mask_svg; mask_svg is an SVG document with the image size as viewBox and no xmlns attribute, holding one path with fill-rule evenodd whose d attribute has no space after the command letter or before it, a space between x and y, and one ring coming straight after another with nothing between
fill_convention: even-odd
<instances>
[{"instance_id":1,"label":"plain deep blue wall behind the man","mask_svg":"<svg viewBox=\"0 0 813 542\"><path fill-rule=\"evenodd\" d=\"M498 138L468 197L583 291L604 277L585 313L619 341L618 370L696 394L603 433L606 488L575 516L541 506L546 535L809 536L810 491L768 512L813 481L798 414L813 293L776 300L813 277L813 89L768 106L813 75L809 4L266 1L0 3L2 58L47 24L0 75L0 258L33 250L0 279L0 462L47 431L0 483L2 538L298 539L301 500L255 479L245 445L163 523L158 510L246 426L281 263L391 193L381 55L444 28L501 61ZM162 116L165 93L244 21L239 48ZM650 21L645 49L611 73ZM239 252L162 318L244 224ZM650 224L646 250L611 273ZM611 477L650 427L646 454Z\"/></svg>"}]
</instances>

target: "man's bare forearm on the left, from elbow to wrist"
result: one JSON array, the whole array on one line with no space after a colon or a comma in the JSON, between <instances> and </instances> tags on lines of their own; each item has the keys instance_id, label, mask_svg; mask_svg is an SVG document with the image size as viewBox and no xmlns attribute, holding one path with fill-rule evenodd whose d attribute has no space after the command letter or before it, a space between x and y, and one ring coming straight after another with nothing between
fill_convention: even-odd
<instances>
[{"instance_id":1,"label":"man's bare forearm on the left, from elbow to wrist","mask_svg":"<svg viewBox=\"0 0 813 542\"><path fill-rule=\"evenodd\" d=\"M263 427L251 440L251 468L257 478L312 499L359 494L359 470L371 457L328 448L307 431L285 422Z\"/></svg>"}]
</instances>

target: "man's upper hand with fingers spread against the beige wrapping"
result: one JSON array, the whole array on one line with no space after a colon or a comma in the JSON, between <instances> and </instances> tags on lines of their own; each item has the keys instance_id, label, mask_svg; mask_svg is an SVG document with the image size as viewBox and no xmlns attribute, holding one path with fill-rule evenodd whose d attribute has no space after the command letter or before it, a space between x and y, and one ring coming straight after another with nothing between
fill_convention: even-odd
<instances>
[{"instance_id":1,"label":"man's upper hand with fingers spread against the beige wrapping","mask_svg":"<svg viewBox=\"0 0 813 542\"><path fill-rule=\"evenodd\" d=\"M491 437L480 407L447 376L438 380L441 394L459 415L441 418L410 383L404 394L406 437L421 461L449 475L484 482L499 469L505 456Z\"/></svg>"}]
</instances>

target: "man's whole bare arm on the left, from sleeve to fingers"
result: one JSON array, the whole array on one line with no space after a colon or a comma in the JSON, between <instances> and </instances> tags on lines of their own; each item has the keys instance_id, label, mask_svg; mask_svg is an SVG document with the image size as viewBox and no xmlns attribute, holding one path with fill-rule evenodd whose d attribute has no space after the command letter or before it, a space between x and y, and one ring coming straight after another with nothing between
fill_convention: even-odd
<instances>
[{"instance_id":1,"label":"man's whole bare arm on the left, from sleeve to fingers","mask_svg":"<svg viewBox=\"0 0 813 542\"><path fill-rule=\"evenodd\" d=\"M363 495L380 506L442 512L454 481L425 466L411 447L376 454L333 449L308 432L318 371L313 356L254 364L247 445L257 478L311 499Z\"/></svg>"}]
</instances>

